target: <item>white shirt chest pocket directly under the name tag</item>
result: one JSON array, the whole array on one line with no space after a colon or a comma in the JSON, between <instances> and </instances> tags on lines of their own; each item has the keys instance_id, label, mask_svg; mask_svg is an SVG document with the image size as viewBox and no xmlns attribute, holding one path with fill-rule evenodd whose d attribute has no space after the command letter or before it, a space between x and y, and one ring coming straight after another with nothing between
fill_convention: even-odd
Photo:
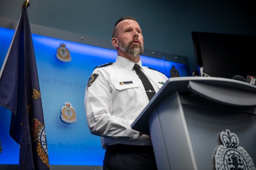
<instances>
[{"instance_id":1,"label":"white shirt chest pocket directly under the name tag","mask_svg":"<svg viewBox=\"0 0 256 170\"><path fill-rule=\"evenodd\" d=\"M132 84L120 85L119 82L114 83L117 96L123 110L132 109L134 107L143 106L139 83L133 81Z\"/></svg>"}]
</instances>

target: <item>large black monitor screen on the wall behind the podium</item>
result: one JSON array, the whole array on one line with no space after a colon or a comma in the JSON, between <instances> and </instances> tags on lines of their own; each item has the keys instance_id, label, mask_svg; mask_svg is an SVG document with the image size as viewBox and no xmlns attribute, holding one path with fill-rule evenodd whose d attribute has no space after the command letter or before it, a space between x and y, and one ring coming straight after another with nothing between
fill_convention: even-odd
<instances>
[{"instance_id":1,"label":"large black monitor screen on the wall behind the podium","mask_svg":"<svg viewBox=\"0 0 256 170\"><path fill-rule=\"evenodd\" d=\"M256 36L192 32L198 65L212 77L256 76Z\"/></svg>"}]
</instances>

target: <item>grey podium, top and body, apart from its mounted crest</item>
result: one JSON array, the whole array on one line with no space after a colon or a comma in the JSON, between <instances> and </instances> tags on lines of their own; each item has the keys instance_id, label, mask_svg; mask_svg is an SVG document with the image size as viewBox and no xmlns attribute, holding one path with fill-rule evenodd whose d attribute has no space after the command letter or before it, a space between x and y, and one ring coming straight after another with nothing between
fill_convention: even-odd
<instances>
[{"instance_id":1,"label":"grey podium, top and body, apart from its mounted crest","mask_svg":"<svg viewBox=\"0 0 256 170\"><path fill-rule=\"evenodd\" d=\"M256 87L218 77L166 81L132 128L151 134L159 170L215 169L220 133L229 129L256 165Z\"/></svg>"}]
</instances>

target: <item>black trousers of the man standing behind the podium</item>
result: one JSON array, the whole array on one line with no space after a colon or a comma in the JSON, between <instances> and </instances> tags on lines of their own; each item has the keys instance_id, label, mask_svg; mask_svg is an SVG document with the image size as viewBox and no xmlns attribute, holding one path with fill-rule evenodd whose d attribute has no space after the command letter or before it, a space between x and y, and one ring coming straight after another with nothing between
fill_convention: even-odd
<instances>
[{"instance_id":1,"label":"black trousers of the man standing behind the podium","mask_svg":"<svg viewBox=\"0 0 256 170\"><path fill-rule=\"evenodd\" d=\"M107 145L103 170L157 170L153 147L126 144Z\"/></svg>"}]
</instances>

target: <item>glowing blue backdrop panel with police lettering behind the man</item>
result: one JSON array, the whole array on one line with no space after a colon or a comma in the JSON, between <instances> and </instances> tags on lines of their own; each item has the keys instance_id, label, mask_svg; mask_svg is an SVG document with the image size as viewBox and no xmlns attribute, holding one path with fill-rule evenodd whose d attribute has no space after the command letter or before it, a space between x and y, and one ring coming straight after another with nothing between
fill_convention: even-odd
<instances>
[{"instance_id":1,"label":"glowing blue backdrop panel with police lettering behind the man","mask_svg":"<svg viewBox=\"0 0 256 170\"><path fill-rule=\"evenodd\" d=\"M4 61L14 30L0 27L0 66ZM50 37L32 35L47 134L50 164L52 165L102 165L104 149L100 138L87 127L84 93L87 81L97 65L115 62L117 52ZM56 49L65 43L70 50L71 62L56 58ZM144 66L149 66L170 77L175 66L180 76L189 76L188 65L164 59L141 56ZM61 109L70 102L76 111L77 121L61 121ZM0 141L3 147L0 164L18 164L19 145L9 135L11 112L0 107Z\"/></svg>"}]
</instances>

